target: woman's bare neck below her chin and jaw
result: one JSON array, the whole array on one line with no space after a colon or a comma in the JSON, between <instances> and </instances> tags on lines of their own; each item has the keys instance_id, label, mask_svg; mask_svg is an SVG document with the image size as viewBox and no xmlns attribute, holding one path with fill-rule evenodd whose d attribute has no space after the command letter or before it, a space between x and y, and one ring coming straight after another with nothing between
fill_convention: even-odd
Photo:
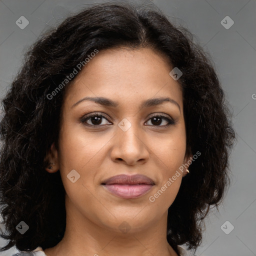
<instances>
[{"instance_id":1,"label":"woman's bare neck below her chin and jaw","mask_svg":"<svg viewBox=\"0 0 256 256\"><path fill-rule=\"evenodd\" d=\"M44 250L47 256L178 256L166 240L167 212L141 230L110 230L85 218L77 209L66 207L66 228L62 240Z\"/></svg>"}]
</instances>

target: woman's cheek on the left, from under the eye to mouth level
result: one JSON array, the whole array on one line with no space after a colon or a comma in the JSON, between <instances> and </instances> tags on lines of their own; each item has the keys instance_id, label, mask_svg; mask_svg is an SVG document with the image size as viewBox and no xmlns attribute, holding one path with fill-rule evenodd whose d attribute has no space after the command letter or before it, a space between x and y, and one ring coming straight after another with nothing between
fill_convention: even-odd
<instances>
[{"instance_id":1,"label":"woman's cheek on the left, from under the eye to mouth level","mask_svg":"<svg viewBox=\"0 0 256 256\"><path fill-rule=\"evenodd\" d=\"M99 136L96 132L86 133L80 124L65 122L61 127L58 158L62 183L68 196L80 194L83 198L90 198L89 191L94 193L97 170L106 157L105 146L109 139L109 136ZM77 181L72 183L70 176L75 176L74 180L77 176Z\"/></svg>"}]
</instances>

